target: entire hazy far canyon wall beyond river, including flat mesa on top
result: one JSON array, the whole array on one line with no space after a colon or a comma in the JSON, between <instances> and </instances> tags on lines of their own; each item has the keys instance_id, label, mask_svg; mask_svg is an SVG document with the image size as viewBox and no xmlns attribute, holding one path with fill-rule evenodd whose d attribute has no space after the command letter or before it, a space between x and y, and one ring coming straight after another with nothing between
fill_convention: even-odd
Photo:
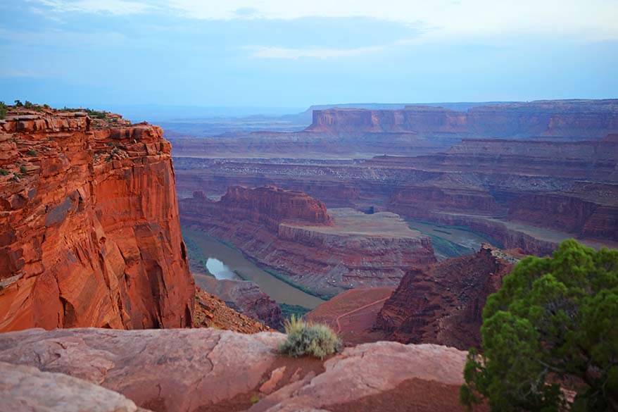
<instances>
[{"instance_id":1,"label":"entire hazy far canyon wall beyond river, including flat mesa on top","mask_svg":"<svg viewBox=\"0 0 618 412\"><path fill-rule=\"evenodd\" d=\"M275 185L328 208L467 227L529 254L567 237L618 244L617 100L323 108L299 132L172 142L181 198Z\"/></svg>"}]
</instances>

